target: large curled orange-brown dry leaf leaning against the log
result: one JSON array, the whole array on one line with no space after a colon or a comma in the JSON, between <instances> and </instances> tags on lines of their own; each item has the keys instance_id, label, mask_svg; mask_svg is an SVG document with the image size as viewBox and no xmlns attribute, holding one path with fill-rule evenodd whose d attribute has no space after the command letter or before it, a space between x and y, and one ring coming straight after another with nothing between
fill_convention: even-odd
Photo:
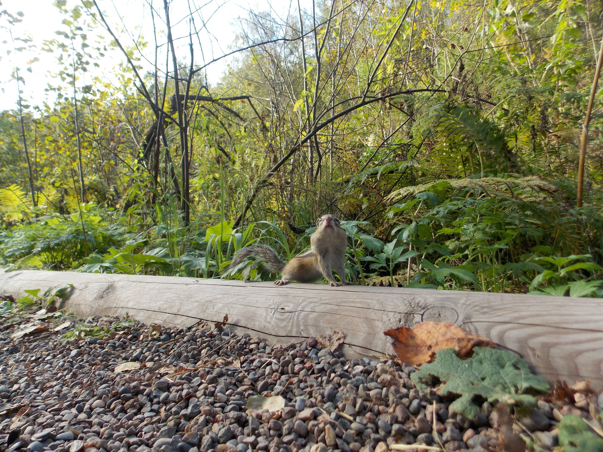
<instances>
[{"instance_id":1,"label":"large curled orange-brown dry leaf leaning against the log","mask_svg":"<svg viewBox=\"0 0 603 452\"><path fill-rule=\"evenodd\" d=\"M384 334L393 339L391 345L400 360L411 366L432 362L435 352L443 348L454 348L463 359L469 357L473 347L496 347L494 342L450 322L422 322L412 329L400 327Z\"/></svg>"}]
</instances>

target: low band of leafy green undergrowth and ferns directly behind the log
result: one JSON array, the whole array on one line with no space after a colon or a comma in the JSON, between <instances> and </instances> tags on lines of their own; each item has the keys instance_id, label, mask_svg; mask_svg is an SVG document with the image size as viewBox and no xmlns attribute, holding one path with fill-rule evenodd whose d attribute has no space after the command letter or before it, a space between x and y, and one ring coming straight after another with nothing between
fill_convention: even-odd
<instances>
[{"instance_id":1,"label":"low band of leafy green undergrowth and ferns directly behind the log","mask_svg":"<svg viewBox=\"0 0 603 452\"><path fill-rule=\"evenodd\" d=\"M420 188L428 190L391 208L397 225L391 227L389 241L379 238L368 221L342 222L349 237L349 280L381 286L603 296L599 253L555 254L575 250L578 238L569 233L551 237L544 218L552 213L543 207L472 198L473 189L467 187ZM0 232L2 262L8 269L272 280L276 275L268 274L259 261L228 268L233 255L244 246L264 243L288 260L309 248L315 229L306 224L293 232L276 219L233 229L233 222L221 220L219 214L199 215L186 227L174 202L168 207L156 207L161 222L142 231L135 221L137 212L107 212L94 204L82 205L81 212L68 216L28 218ZM595 217L592 221L599 224Z\"/></svg>"}]
</instances>

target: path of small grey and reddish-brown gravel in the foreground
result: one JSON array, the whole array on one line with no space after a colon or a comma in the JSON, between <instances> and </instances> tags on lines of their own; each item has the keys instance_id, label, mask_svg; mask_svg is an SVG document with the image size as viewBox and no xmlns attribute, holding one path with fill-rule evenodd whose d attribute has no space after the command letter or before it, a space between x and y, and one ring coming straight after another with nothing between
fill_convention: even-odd
<instances>
[{"instance_id":1,"label":"path of small grey and reddish-brown gravel in the foreground","mask_svg":"<svg viewBox=\"0 0 603 452\"><path fill-rule=\"evenodd\" d=\"M71 318L71 326L53 330L66 319L44 319L49 328L17 342L10 334L31 315L0 325L2 450L387 452L391 444L425 450L419 445L441 443L449 451L484 452L500 446L490 404L482 406L483 425L449 416L450 401L418 394L409 379L414 369L391 359L346 360L318 350L313 338L271 348L203 324L176 330L90 318L74 330ZM124 362L140 369L116 371ZM257 394L280 394L285 408L246 412L247 398ZM551 449L562 415L587 417L588 401L579 402L559 407L541 400L520 421Z\"/></svg>"}]
</instances>

